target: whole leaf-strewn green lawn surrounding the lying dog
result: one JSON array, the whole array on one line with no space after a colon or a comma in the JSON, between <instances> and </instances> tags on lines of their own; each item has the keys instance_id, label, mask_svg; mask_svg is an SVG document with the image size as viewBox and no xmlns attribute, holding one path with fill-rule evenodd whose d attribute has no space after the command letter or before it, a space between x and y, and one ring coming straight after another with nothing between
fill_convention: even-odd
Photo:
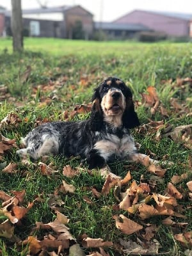
<instances>
[{"instance_id":1,"label":"whole leaf-strewn green lawn surrounding the lying dog","mask_svg":"<svg viewBox=\"0 0 192 256\"><path fill-rule=\"evenodd\" d=\"M26 38L24 46L13 54L12 41L0 40L0 127L10 140L0 141L0 255L191 255L192 44ZM134 94L140 152L172 164L116 161L114 173L131 173L121 182L78 157L15 154L37 125L88 118L93 88L109 76Z\"/></svg>"}]
</instances>

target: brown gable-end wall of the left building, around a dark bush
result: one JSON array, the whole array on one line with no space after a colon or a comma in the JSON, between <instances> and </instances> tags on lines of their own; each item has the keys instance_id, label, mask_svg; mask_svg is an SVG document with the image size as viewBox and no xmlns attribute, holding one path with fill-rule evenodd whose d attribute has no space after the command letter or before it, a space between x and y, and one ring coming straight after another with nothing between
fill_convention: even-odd
<instances>
[{"instance_id":1,"label":"brown gable-end wall of the left building, around a dark bush","mask_svg":"<svg viewBox=\"0 0 192 256\"><path fill-rule=\"evenodd\" d=\"M66 37L72 38L72 32L77 21L81 21L84 31L84 39L89 39L93 34L93 16L81 6L77 6L65 12Z\"/></svg>"}]
</instances>

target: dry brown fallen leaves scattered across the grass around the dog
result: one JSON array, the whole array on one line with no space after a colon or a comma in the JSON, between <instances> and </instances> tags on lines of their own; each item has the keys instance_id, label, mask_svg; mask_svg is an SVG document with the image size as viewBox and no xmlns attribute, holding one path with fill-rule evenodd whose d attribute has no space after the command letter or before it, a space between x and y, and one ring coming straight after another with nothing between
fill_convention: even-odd
<instances>
[{"instance_id":1,"label":"dry brown fallen leaves scattered across the grass around the dog","mask_svg":"<svg viewBox=\"0 0 192 256\"><path fill-rule=\"evenodd\" d=\"M25 83L31 74L31 67L26 69L26 73L20 75L20 81ZM61 83L66 81L67 77L63 77L63 80L56 82L49 82L46 85L40 85L45 92L49 92L51 90L60 90ZM82 76L79 82L80 86L86 88L91 83L89 77ZM185 90L185 85L188 83L192 83L191 79L177 79L176 83L169 81L173 87L173 89L177 86L181 86L182 90ZM6 89L6 88L5 88ZM5 90L4 89L4 90ZM34 97L36 97L36 93L38 93L38 88L34 87ZM192 125L179 125L177 127L172 127L172 125L165 122L164 118L168 118L170 116L170 111L177 115L177 118L180 118L184 115L191 115L190 109L188 106L182 102L178 102L177 99L170 99L170 109L166 109L166 107L162 104L161 100L159 100L158 93L156 92L156 88L154 86L149 86L147 88L147 93L142 93L142 104L145 108L149 109L150 114L152 116L159 113L163 120L153 121L145 125L141 125L138 128L138 132L140 134L150 134L157 141L161 140L161 138L167 137L175 141L175 143L180 143L186 149L191 149L191 134L192 134ZM54 96L52 96L54 97ZM58 97L56 97L58 98ZM42 104L49 104L49 99L45 99L44 97L40 98L40 102ZM44 106L39 106L40 108ZM66 109L63 113L60 113L61 120L70 120L70 118L74 118L76 115L81 115L84 113L89 113L92 108L92 104L81 104L79 106L75 106L72 111ZM17 113L10 113L8 116L3 118L0 122L0 126L2 129L15 129L18 127L22 120L20 120L19 115ZM36 119L36 125L40 125L44 122L49 122L49 120L45 119ZM1 135L0 140L0 157L1 161L3 157L13 150L13 148L17 147L15 143L15 139L10 140ZM150 152L150 150L149 150ZM152 154L152 152L150 152ZM154 155L154 157L156 157ZM166 158L166 156L165 156ZM23 162L26 166L30 166L31 163L25 160L26 163ZM114 227L116 227L119 232L125 235L136 234L136 241L132 241L131 239L123 240L120 238L120 245L122 246L122 253L129 253L129 255L154 255L159 253L159 249L161 248L161 244L157 241L156 232L159 229L158 225L154 225L149 223L151 218L155 216L162 216L161 224L166 225L172 228L172 232L174 235L174 239L180 243L184 248L191 248L191 232L187 232L189 221L178 221L177 218L186 219L186 217L182 214L183 211L180 211L179 207L180 200L185 197L184 191L175 188L177 184L180 182L186 183L186 188L188 189L188 202L191 200L192 195L192 185L191 185L191 163L189 160L189 164L186 167L188 171L180 174L173 175L170 182L167 184L167 188L161 194L156 192L156 187L159 182L164 182L164 175L166 174L167 169L162 168L160 165L152 164L149 161L149 157L145 159L141 159L141 164L145 166L146 170L150 173L150 178L147 182L140 183L136 182L131 175L131 171L127 172L125 177L113 176L111 173L106 172L106 178L102 189L99 190L97 188L90 188L89 191L92 192L92 195L95 198L102 198L103 196L108 196L110 191L114 191L114 196L118 201L118 207L116 209L123 210L124 214L114 215L113 220ZM45 175L50 177L51 179L56 179L58 175L58 170L55 170L52 164L45 164L43 162L33 163L33 167L40 171L40 175ZM16 163L8 163L7 166L4 166L1 172L6 173L8 175L14 174L17 172L17 164ZM81 168L72 168L69 164L63 166L63 176L68 179L72 179L81 175ZM180 190L180 191L179 191ZM68 248L72 248L72 243L77 244L77 240L75 237L70 234L70 228L67 227L68 222L70 221L67 216L61 213L61 205L65 205L65 202L61 199L60 195L72 194L75 195L76 188L72 184L68 184L64 179L62 180L60 186L55 189L53 195L49 195L49 207L51 211L54 211L56 214L56 218L54 221L49 223L36 222L36 227L31 231L31 235L26 237L23 241L19 239L19 237L15 236L14 230L17 227L20 220L23 218L27 218L28 212L34 207L35 202L38 202L38 198L35 198L33 202L25 201L25 191L10 191L13 196L7 194L4 191L0 191L0 200L3 201L3 204L0 208L0 216L4 216L6 218L0 224L0 236L16 243L17 246L22 248L22 252L28 252L30 255L35 255L42 253L50 254L50 249L52 250L52 255L63 255L63 252L67 252ZM92 205L93 201L89 196L84 195L83 198L86 204ZM95 204L95 202L94 202ZM113 205L115 209L115 205ZM128 217L128 218L127 218ZM134 220L132 220L134 218ZM147 221L147 222L145 222ZM20 225L22 225L20 223ZM159 224L160 225L160 224ZM182 228L182 233L177 233L178 229L174 228ZM46 230L44 237L35 236L35 230ZM100 251L95 251L90 255L102 255L109 256L103 249L103 247L115 246L112 241L103 241L102 238L92 238L88 236L84 236L82 241L80 242L81 246L85 248L99 248ZM84 255L81 247L78 247L79 253L81 252ZM80 254L79 254L80 255Z\"/></svg>"}]
</instances>

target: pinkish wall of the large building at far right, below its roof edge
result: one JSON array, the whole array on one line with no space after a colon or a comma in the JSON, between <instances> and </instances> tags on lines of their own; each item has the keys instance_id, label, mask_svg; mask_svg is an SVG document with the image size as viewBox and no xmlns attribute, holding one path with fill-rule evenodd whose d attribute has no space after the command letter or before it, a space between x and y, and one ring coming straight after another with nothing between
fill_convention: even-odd
<instances>
[{"instance_id":1,"label":"pinkish wall of the large building at far right, below its roof edge","mask_svg":"<svg viewBox=\"0 0 192 256\"><path fill-rule=\"evenodd\" d=\"M140 23L155 31L162 31L170 36L189 36L188 20L166 17L156 13L133 11L124 15L115 23Z\"/></svg>"}]
</instances>

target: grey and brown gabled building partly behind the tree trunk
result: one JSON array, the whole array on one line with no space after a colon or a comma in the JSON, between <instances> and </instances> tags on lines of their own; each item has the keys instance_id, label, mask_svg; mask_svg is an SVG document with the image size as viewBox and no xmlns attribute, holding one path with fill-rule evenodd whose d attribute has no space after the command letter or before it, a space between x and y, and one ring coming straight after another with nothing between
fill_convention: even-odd
<instances>
[{"instance_id":1,"label":"grey and brown gabled building partly behind the tree trunk","mask_svg":"<svg viewBox=\"0 0 192 256\"><path fill-rule=\"evenodd\" d=\"M4 12L6 32L10 34L11 12ZM83 7L58 6L22 10L24 33L29 36L89 39L93 15Z\"/></svg>"}]
</instances>

